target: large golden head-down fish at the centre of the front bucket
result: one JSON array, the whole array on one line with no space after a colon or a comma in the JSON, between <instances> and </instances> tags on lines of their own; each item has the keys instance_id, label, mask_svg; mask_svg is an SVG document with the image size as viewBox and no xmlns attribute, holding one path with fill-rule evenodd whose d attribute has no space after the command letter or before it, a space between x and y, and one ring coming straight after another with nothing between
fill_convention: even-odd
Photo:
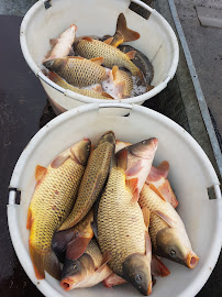
<instances>
[{"instance_id":1,"label":"large golden head-down fish at the centre of the front bucket","mask_svg":"<svg viewBox=\"0 0 222 297\"><path fill-rule=\"evenodd\" d=\"M110 268L143 295L152 293L152 245L143 212L121 167L112 167L95 208L95 234Z\"/></svg>"}]
</instances>

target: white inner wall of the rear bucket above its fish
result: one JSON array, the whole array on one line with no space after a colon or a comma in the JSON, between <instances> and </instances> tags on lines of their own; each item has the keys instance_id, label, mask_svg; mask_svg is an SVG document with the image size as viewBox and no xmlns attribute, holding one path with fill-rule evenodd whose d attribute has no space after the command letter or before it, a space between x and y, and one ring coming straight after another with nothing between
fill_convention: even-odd
<instances>
[{"instance_id":1,"label":"white inner wall of the rear bucket above its fish","mask_svg":"<svg viewBox=\"0 0 222 297\"><path fill-rule=\"evenodd\" d=\"M37 66L51 51L49 40L58 37L70 24L78 26L77 36L113 35L118 15L123 12L127 26L141 34L140 40L129 44L144 53L154 66L152 84L157 86L167 77L174 57L173 41L165 21L155 11L145 20L129 9L129 0L52 0L51 3L47 10L44 3L38 3L25 28L27 48Z\"/></svg>"}]
</instances>

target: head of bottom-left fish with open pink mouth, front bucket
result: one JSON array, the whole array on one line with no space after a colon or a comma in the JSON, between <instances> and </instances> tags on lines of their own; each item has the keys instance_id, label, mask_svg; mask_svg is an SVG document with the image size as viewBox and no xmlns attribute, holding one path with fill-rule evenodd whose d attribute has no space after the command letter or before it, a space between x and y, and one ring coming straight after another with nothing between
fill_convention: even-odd
<instances>
[{"instance_id":1,"label":"head of bottom-left fish with open pink mouth, front bucket","mask_svg":"<svg viewBox=\"0 0 222 297\"><path fill-rule=\"evenodd\" d=\"M88 254L84 254L78 260L66 258L62 272L60 286L65 290L81 286L87 277L93 272L95 263Z\"/></svg>"}]
</instances>

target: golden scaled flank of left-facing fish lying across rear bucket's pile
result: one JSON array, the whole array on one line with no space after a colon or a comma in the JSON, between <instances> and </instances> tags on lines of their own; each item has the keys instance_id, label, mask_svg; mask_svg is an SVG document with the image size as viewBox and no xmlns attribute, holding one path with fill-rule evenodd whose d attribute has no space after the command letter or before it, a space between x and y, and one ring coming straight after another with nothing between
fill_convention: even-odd
<instances>
[{"instance_id":1,"label":"golden scaled flank of left-facing fish lying across rear bucket's pile","mask_svg":"<svg viewBox=\"0 0 222 297\"><path fill-rule=\"evenodd\" d=\"M76 87L98 84L108 76L104 67L80 57L67 57L65 66L56 73Z\"/></svg>"}]
</instances>

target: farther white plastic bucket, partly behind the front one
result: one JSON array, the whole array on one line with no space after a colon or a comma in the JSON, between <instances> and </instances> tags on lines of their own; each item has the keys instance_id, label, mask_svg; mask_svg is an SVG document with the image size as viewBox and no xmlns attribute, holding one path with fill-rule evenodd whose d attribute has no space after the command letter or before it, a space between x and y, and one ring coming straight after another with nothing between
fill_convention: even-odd
<instances>
[{"instance_id":1,"label":"farther white plastic bucket, partly behind the front one","mask_svg":"<svg viewBox=\"0 0 222 297\"><path fill-rule=\"evenodd\" d=\"M51 8L45 9L44 3ZM178 65L179 50L177 37L167 21L155 10L138 0L132 0L151 12L148 20L129 9L131 0L52 0L36 2L25 14L21 24L20 42L24 58L41 79L55 112L86 103L122 102L142 105L162 91L174 77ZM49 80L40 66L51 50L49 38L58 37L71 23L77 24L77 36L113 35L118 15L123 12L129 28L140 32L141 37L132 43L144 53L154 66L155 86L151 91L124 100L93 99L66 90ZM115 110L120 112L120 110Z\"/></svg>"}]
</instances>

